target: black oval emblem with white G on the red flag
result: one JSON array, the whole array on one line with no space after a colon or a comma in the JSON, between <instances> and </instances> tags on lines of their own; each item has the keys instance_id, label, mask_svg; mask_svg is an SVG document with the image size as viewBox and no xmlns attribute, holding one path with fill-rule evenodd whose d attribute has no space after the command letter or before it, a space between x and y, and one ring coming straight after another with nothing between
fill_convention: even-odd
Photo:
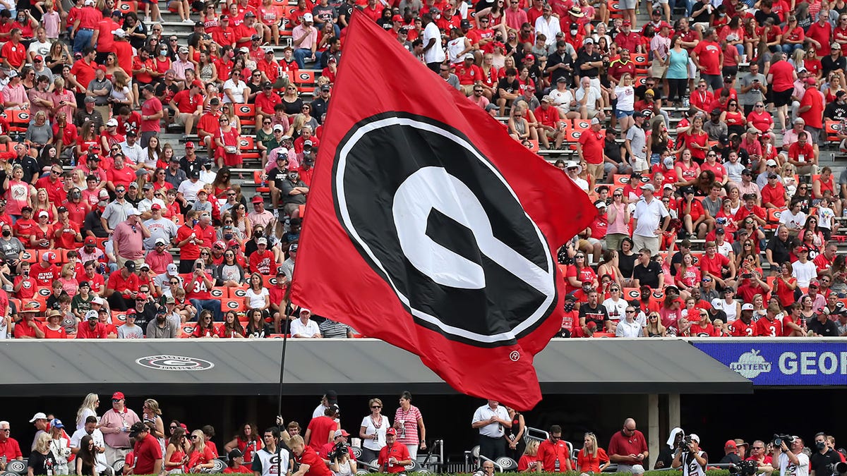
<instances>
[{"instance_id":1,"label":"black oval emblem with white G on the red flag","mask_svg":"<svg viewBox=\"0 0 847 476\"><path fill-rule=\"evenodd\" d=\"M507 346L551 314L556 271L545 237L460 130L381 113L354 125L335 154L340 224L417 324Z\"/></svg>"}]
</instances>

